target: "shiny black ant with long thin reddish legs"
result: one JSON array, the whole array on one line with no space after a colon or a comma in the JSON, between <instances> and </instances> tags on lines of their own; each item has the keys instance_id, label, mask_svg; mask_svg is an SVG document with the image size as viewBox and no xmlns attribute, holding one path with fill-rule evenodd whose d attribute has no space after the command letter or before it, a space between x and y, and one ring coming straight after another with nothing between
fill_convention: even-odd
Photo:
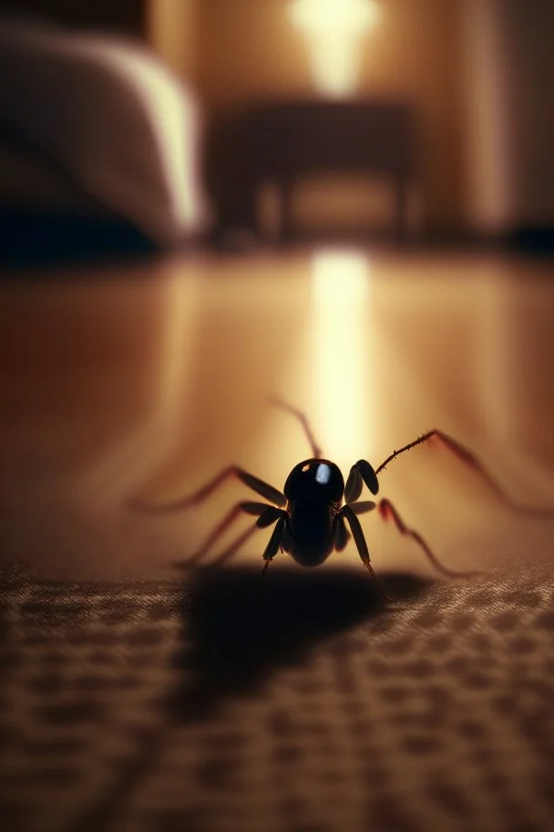
<instances>
[{"instance_id":1,"label":"shiny black ant with long thin reddish legs","mask_svg":"<svg viewBox=\"0 0 554 832\"><path fill-rule=\"evenodd\" d=\"M352 536L364 567L373 578L382 597L389 600L374 573L364 532L358 520L358 515L371 512L376 508L384 520L391 520L394 523L400 534L415 541L438 572L446 577L475 575L475 573L457 572L443 566L430 547L427 546L424 538L414 529L405 525L404 520L390 500L383 499L378 504L374 503L373 500L358 500L364 485L374 496L379 493L377 476L385 470L388 463L395 460L401 453L410 451L417 445L422 445L431 440L441 442L459 460L476 471L502 502L519 509L524 508L528 512L551 514L548 510L533 510L530 507L513 503L490 477L474 453L468 451L464 445L447 433L437 429L423 433L413 442L408 442L402 448L392 452L375 469L366 460L358 460L351 467L344 484L344 477L338 465L323 458L323 453L313 438L313 432L303 411L299 411L279 399L273 399L272 401L283 410L292 413L300 421L303 432L312 448L312 457L292 468L282 492L242 468L231 465L224 468L209 483L203 485L198 491L190 494L185 499L161 505L148 504L139 500L134 501L135 507L148 511L180 511L200 504L229 477L235 477L267 501L266 503L243 501L231 508L231 511L215 526L210 536L200 546L200 549L190 558L190 565L198 563L216 540L231 526L233 521L243 513L257 517L255 525L242 533L218 558L217 563L222 563L234 554L257 529L268 528L271 525L273 525L272 536L262 555L264 562L262 576L265 576L273 557L277 555L280 549L282 552L291 555L303 567L317 567L333 551L342 552ZM346 524L348 524L350 531Z\"/></svg>"}]
</instances>

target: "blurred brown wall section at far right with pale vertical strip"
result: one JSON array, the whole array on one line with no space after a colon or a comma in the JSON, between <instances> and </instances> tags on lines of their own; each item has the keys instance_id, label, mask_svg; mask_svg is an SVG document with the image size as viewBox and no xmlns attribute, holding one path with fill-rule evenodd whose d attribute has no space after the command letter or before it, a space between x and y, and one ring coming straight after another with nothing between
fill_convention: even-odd
<instances>
[{"instance_id":1,"label":"blurred brown wall section at far right with pale vertical strip","mask_svg":"<svg viewBox=\"0 0 554 832\"><path fill-rule=\"evenodd\" d=\"M467 222L554 225L554 4L468 0Z\"/></svg>"}]
</instances>

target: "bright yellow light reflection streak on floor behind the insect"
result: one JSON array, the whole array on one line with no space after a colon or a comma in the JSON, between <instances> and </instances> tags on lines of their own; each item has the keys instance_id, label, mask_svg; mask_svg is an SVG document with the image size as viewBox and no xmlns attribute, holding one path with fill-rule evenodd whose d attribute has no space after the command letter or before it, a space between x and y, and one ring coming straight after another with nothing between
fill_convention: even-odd
<instances>
[{"instance_id":1,"label":"bright yellow light reflection streak on floor behind the insect","mask_svg":"<svg viewBox=\"0 0 554 832\"><path fill-rule=\"evenodd\" d=\"M312 280L315 411L334 461L348 466L370 447L367 257L349 250L319 252Z\"/></svg>"}]
</instances>

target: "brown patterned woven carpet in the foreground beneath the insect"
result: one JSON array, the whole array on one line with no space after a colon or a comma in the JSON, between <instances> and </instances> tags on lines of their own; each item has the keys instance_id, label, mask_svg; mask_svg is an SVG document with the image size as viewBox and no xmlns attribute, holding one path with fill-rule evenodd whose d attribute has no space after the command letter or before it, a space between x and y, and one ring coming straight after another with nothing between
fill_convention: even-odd
<instances>
[{"instance_id":1,"label":"brown patterned woven carpet in the foreground beneath the insect","mask_svg":"<svg viewBox=\"0 0 554 832\"><path fill-rule=\"evenodd\" d=\"M1 827L554 828L554 572L2 576Z\"/></svg>"}]
</instances>

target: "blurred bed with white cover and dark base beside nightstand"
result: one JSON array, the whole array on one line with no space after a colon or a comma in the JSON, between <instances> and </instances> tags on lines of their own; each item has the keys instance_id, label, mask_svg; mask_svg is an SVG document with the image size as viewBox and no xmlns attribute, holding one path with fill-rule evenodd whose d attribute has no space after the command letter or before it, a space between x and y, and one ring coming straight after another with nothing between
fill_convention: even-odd
<instances>
[{"instance_id":1,"label":"blurred bed with white cover and dark base beside nightstand","mask_svg":"<svg viewBox=\"0 0 554 832\"><path fill-rule=\"evenodd\" d=\"M4 17L0 77L4 253L202 234L199 101L147 47Z\"/></svg>"}]
</instances>

